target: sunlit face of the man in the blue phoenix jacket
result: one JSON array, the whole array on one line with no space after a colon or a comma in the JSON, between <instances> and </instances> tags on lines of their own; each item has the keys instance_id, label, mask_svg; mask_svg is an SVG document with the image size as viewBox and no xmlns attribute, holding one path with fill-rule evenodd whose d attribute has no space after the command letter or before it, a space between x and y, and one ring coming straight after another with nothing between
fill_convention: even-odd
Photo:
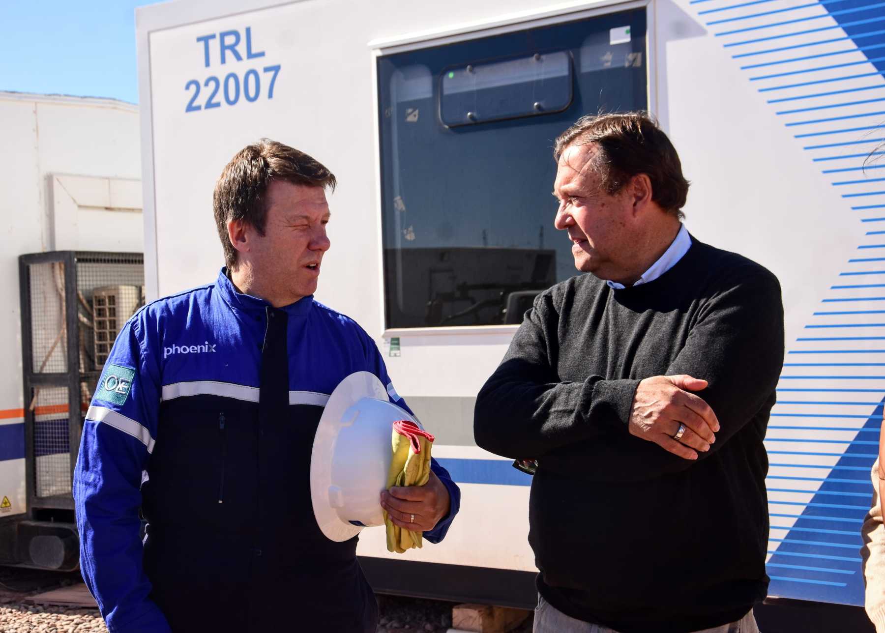
<instances>
[{"instance_id":1,"label":"sunlit face of the man in the blue phoenix jacket","mask_svg":"<svg viewBox=\"0 0 885 633\"><path fill-rule=\"evenodd\" d=\"M250 263L265 292L286 303L314 294L323 255L329 212L323 187L274 180L267 187L264 236L253 235Z\"/></svg>"}]
</instances>

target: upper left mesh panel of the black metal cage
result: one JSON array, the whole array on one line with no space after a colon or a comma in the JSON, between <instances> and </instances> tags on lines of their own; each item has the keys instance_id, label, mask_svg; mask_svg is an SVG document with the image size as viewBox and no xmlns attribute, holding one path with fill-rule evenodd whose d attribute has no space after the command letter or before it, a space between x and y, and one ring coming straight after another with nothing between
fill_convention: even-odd
<instances>
[{"instance_id":1,"label":"upper left mesh panel of the black metal cage","mask_svg":"<svg viewBox=\"0 0 885 633\"><path fill-rule=\"evenodd\" d=\"M67 370L65 263L30 265L32 367L37 374Z\"/></svg>"}]
</instances>

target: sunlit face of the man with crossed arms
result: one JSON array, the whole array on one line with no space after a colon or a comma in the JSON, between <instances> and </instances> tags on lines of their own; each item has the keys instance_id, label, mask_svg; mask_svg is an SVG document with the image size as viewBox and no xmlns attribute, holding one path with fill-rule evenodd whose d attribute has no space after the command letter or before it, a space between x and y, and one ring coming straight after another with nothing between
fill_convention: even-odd
<instances>
[{"instance_id":1,"label":"sunlit face of the man with crossed arms","mask_svg":"<svg viewBox=\"0 0 885 633\"><path fill-rule=\"evenodd\" d=\"M609 195L593 169L596 145L573 145L559 157L553 225L568 233L574 266L598 278L617 279L631 262L633 203L626 190ZM626 189L626 187L625 187Z\"/></svg>"}]
</instances>

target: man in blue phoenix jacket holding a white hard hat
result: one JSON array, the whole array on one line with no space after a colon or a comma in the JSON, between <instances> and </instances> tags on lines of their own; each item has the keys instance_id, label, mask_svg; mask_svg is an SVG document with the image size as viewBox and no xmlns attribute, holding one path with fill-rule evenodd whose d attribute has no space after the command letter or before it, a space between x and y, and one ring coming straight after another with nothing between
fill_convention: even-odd
<instances>
[{"instance_id":1,"label":"man in blue phoenix jacket holding a white hard hat","mask_svg":"<svg viewBox=\"0 0 885 633\"><path fill-rule=\"evenodd\" d=\"M312 297L334 187L296 149L242 149L214 193L227 266L119 333L73 480L83 577L112 633L293 629L293 603L304 630L375 630L357 538L330 541L313 517L313 435L354 371L407 407L373 339ZM460 493L432 468L426 486L381 505L436 543Z\"/></svg>"}]
</instances>

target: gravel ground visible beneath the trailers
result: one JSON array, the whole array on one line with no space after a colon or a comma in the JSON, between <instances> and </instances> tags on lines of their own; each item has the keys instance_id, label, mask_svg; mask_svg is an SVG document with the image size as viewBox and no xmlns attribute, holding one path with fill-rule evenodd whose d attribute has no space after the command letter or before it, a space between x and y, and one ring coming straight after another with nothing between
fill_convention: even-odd
<instances>
[{"instance_id":1,"label":"gravel ground visible beneath the trailers","mask_svg":"<svg viewBox=\"0 0 885 633\"><path fill-rule=\"evenodd\" d=\"M49 591L59 583L48 584L46 576L35 576L12 582L9 576L0 578L0 633L106 633L98 609L67 606L38 606L25 602L28 596ZM60 584L75 582L63 578ZM4 582L5 581L5 582ZM51 582L51 581L50 581ZM452 602L378 596L381 618L378 633L443 633L451 627ZM514 629L515 633L530 633L532 618Z\"/></svg>"}]
</instances>

